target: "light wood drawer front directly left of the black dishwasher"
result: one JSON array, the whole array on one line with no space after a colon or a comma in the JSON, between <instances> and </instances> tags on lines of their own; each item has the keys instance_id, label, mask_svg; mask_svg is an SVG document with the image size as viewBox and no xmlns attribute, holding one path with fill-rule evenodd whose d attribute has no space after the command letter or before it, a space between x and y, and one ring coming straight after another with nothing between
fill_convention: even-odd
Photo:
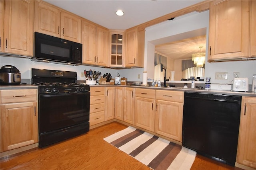
<instances>
[{"instance_id":1,"label":"light wood drawer front directly left of the black dishwasher","mask_svg":"<svg viewBox=\"0 0 256 170\"><path fill-rule=\"evenodd\" d=\"M183 103L184 92L156 90L156 99Z\"/></svg>"}]
</instances>

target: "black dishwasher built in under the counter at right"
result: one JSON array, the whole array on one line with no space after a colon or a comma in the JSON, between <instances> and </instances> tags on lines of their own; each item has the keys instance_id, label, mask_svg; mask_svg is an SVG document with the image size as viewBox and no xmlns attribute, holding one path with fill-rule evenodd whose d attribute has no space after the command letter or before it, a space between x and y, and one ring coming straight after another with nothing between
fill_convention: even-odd
<instances>
[{"instance_id":1,"label":"black dishwasher built in under the counter at right","mask_svg":"<svg viewBox=\"0 0 256 170\"><path fill-rule=\"evenodd\" d=\"M234 166L241 96L185 92L182 146Z\"/></svg>"}]
</instances>

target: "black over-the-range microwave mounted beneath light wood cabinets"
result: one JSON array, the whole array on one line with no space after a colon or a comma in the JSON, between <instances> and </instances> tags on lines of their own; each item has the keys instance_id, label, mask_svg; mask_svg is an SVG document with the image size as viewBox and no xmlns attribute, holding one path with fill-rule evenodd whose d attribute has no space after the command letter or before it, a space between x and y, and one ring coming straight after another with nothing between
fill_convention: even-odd
<instances>
[{"instance_id":1,"label":"black over-the-range microwave mounted beneath light wood cabinets","mask_svg":"<svg viewBox=\"0 0 256 170\"><path fill-rule=\"evenodd\" d=\"M32 61L82 64L82 44L35 32Z\"/></svg>"}]
</instances>

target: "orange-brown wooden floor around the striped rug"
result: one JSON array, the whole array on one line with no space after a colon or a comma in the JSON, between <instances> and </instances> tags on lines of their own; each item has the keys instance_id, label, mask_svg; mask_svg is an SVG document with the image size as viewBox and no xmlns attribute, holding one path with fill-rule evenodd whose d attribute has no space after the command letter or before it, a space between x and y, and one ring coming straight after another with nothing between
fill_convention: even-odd
<instances>
[{"instance_id":1,"label":"orange-brown wooden floor around the striped rug","mask_svg":"<svg viewBox=\"0 0 256 170\"><path fill-rule=\"evenodd\" d=\"M127 126L117 122L84 135L1 158L1 170L150 170L128 154L103 140ZM191 170L241 170L197 155Z\"/></svg>"}]
</instances>

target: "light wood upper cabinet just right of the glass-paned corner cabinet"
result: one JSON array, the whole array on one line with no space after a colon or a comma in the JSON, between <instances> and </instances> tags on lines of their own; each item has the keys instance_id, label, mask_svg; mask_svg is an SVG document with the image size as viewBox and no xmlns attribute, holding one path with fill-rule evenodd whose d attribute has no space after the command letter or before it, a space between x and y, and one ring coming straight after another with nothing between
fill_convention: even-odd
<instances>
[{"instance_id":1,"label":"light wood upper cabinet just right of the glass-paned corner cabinet","mask_svg":"<svg viewBox=\"0 0 256 170\"><path fill-rule=\"evenodd\" d=\"M144 67L145 30L138 31L138 27L128 29L126 37L126 67Z\"/></svg>"}]
</instances>

